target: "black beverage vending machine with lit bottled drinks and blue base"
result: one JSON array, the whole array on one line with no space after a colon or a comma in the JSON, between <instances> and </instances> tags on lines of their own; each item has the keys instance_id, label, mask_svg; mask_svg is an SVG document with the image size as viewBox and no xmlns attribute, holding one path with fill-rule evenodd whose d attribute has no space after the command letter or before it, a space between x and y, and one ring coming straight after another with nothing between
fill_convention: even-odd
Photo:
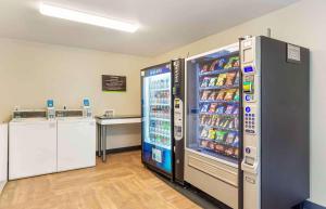
<instances>
[{"instance_id":1,"label":"black beverage vending machine with lit bottled drinks and blue base","mask_svg":"<svg viewBox=\"0 0 326 209\"><path fill-rule=\"evenodd\" d=\"M141 70L142 162L184 182L184 60Z\"/></svg>"}]
</instances>

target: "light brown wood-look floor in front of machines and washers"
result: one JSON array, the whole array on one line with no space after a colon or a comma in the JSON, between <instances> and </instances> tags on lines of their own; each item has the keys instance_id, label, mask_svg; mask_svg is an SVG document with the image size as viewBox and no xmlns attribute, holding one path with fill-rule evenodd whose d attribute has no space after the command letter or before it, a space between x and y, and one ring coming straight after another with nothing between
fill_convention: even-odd
<instances>
[{"instance_id":1,"label":"light brown wood-look floor in front of machines and washers","mask_svg":"<svg viewBox=\"0 0 326 209\"><path fill-rule=\"evenodd\" d=\"M140 152L109 155L97 167L11 181L0 209L197 209L140 162Z\"/></svg>"}]
</instances>

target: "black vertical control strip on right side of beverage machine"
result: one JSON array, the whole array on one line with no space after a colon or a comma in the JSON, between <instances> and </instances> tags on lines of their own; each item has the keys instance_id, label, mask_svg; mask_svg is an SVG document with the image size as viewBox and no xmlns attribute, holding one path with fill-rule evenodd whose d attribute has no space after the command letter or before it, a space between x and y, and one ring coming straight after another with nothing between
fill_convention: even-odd
<instances>
[{"instance_id":1,"label":"black vertical control strip on right side of beverage machine","mask_svg":"<svg viewBox=\"0 0 326 209\"><path fill-rule=\"evenodd\" d=\"M173 133L174 133L174 181L184 184L184 109L185 109L185 60L178 58L172 61L173 75Z\"/></svg>"}]
</instances>

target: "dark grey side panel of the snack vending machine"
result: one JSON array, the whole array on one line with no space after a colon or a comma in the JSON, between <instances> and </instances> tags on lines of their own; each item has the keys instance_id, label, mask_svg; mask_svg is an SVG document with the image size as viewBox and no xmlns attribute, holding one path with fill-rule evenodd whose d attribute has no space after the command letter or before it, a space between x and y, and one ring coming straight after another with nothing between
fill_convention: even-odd
<instances>
[{"instance_id":1,"label":"dark grey side panel of the snack vending machine","mask_svg":"<svg viewBox=\"0 0 326 209\"><path fill-rule=\"evenodd\" d=\"M310 196L310 53L261 37L262 209L289 209Z\"/></svg>"}]
</instances>

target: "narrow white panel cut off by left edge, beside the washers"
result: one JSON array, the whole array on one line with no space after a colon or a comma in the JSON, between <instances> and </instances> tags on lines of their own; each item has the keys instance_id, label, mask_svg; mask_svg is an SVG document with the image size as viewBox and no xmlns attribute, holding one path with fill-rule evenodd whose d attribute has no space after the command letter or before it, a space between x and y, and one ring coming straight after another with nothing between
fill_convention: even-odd
<instances>
[{"instance_id":1,"label":"narrow white panel cut off by left edge, beside the washers","mask_svg":"<svg viewBox=\"0 0 326 209\"><path fill-rule=\"evenodd\" d=\"M0 123L0 195L8 181L8 125Z\"/></svg>"}]
</instances>

